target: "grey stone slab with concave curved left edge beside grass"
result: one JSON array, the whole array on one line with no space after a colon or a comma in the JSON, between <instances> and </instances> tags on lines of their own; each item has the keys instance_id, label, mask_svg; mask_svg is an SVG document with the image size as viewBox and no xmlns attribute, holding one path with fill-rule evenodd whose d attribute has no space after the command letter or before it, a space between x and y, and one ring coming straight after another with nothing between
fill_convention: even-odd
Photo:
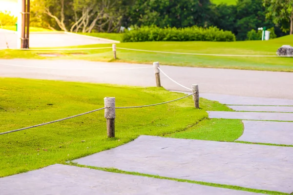
<instances>
[{"instance_id":1,"label":"grey stone slab with concave curved left edge beside grass","mask_svg":"<svg viewBox=\"0 0 293 195\"><path fill-rule=\"evenodd\" d=\"M293 122L244 120L244 132L237 141L293 145Z\"/></svg>"}]
</instances>

